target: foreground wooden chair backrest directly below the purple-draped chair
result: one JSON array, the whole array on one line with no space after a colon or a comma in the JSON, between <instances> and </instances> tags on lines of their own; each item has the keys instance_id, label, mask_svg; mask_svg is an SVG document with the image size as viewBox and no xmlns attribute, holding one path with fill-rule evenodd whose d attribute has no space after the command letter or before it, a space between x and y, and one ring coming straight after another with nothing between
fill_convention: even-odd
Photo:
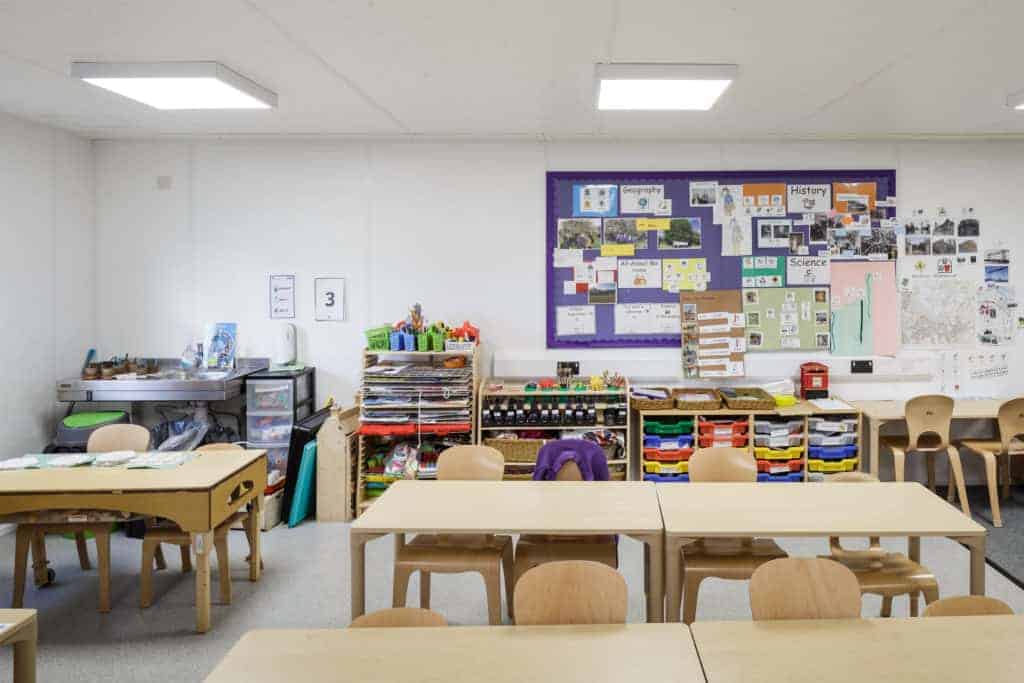
<instances>
[{"instance_id":1,"label":"foreground wooden chair backrest directly below the purple-draped chair","mask_svg":"<svg viewBox=\"0 0 1024 683\"><path fill-rule=\"evenodd\" d=\"M626 623L626 580L600 562L545 562L519 579L514 596L520 626Z\"/></svg>"}]
</instances>

